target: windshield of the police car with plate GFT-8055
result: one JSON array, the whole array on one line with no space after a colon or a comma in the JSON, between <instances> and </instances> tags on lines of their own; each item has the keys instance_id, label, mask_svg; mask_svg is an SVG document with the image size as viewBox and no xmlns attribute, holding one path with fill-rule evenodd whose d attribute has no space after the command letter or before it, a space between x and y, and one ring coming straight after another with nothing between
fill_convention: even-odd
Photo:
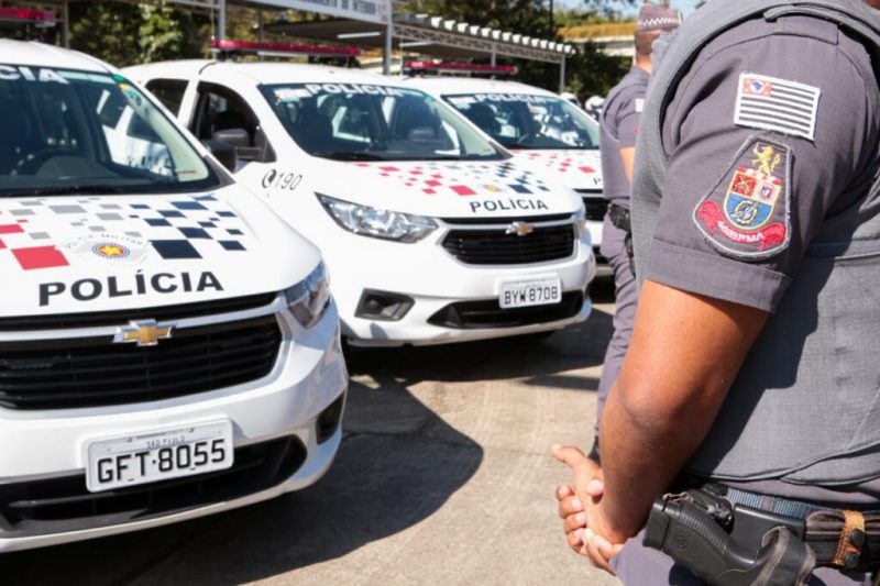
<instances>
[{"instance_id":1,"label":"windshield of the police car with plate GFT-8055","mask_svg":"<svg viewBox=\"0 0 880 586\"><path fill-rule=\"evenodd\" d=\"M0 64L0 197L218 185L201 155L123 77Z\"/></svg>"}]
</instances>

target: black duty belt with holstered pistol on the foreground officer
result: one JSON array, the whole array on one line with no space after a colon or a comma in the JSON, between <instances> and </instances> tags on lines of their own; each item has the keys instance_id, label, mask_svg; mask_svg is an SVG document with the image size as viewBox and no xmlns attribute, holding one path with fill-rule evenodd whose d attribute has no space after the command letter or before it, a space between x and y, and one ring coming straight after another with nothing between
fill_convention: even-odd
<instances>
[{"instance_id":1,"label":"black duty belt with holstered pistol on the foreground officer","mask_svg":"<svg viewBox=\"0 0 880 586\"><path fill-rule=\"evenodd\" d=\"M834 509L716 483L695 486L654 501L645 545L711 585L801 586L816 566L880 568L880 510Z\"/></svg>"}]
</instances>

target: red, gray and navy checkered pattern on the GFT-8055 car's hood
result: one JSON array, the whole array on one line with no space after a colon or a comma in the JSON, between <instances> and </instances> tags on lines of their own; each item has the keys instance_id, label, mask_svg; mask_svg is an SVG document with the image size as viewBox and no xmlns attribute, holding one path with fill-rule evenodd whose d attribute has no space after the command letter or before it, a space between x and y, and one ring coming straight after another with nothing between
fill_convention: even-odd
<instances>
[{"instance_id":1,"label":"red, gray and navy checkered pattern on the GFT-8055 car's hood","mask_svg":"<svg viewBox=\"0 0 880 586\"><path fill-rule=\"evenodd\" d=\"M148 240L163 258L245 251L249 240L241 219L213 195L113 202L91 197L73 203L38 198L0 210L0 255L11 254L24 270L68 266L56 245L103 233Z\"/></svg>"}]
</instances>

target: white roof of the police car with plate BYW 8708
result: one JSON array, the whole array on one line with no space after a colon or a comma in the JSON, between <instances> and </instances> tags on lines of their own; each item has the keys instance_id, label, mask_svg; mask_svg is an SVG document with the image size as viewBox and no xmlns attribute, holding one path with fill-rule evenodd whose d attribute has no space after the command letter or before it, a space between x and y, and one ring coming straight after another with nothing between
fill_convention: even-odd
<instances>
[{"instance_id":1,"label":"white roof of the police car with plate BYW 8708","mask_svg":"<svg viewBox=\"0 0 880 586\"><path fill-rule=\"evenodd\" d=\"M151 77L163 76L189 79L210 67L216 73L242 76L256 84L370 84L406 87L402 79L348 67L330 67L301 63L220 62L210 59L162 62L125 69L132 77L150 73Z\"/></svg>"}]
</instances>

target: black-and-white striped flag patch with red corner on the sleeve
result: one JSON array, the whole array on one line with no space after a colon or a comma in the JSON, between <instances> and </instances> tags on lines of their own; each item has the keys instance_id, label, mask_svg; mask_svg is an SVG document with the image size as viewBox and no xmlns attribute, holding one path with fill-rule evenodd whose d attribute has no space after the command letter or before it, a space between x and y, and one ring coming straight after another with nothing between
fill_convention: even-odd
<instances>
[{"instance_id":1,"label":"black-and-white striped flag patch with red corner on the sleeve","mask_svg":"<svg viewBox=\"0 0 880 586\"><path fill-rule=\"evenodd\" d=\"M822 89L757 74L741 74L734 123L815 139Z\"/></svg>"}]
</instances>

